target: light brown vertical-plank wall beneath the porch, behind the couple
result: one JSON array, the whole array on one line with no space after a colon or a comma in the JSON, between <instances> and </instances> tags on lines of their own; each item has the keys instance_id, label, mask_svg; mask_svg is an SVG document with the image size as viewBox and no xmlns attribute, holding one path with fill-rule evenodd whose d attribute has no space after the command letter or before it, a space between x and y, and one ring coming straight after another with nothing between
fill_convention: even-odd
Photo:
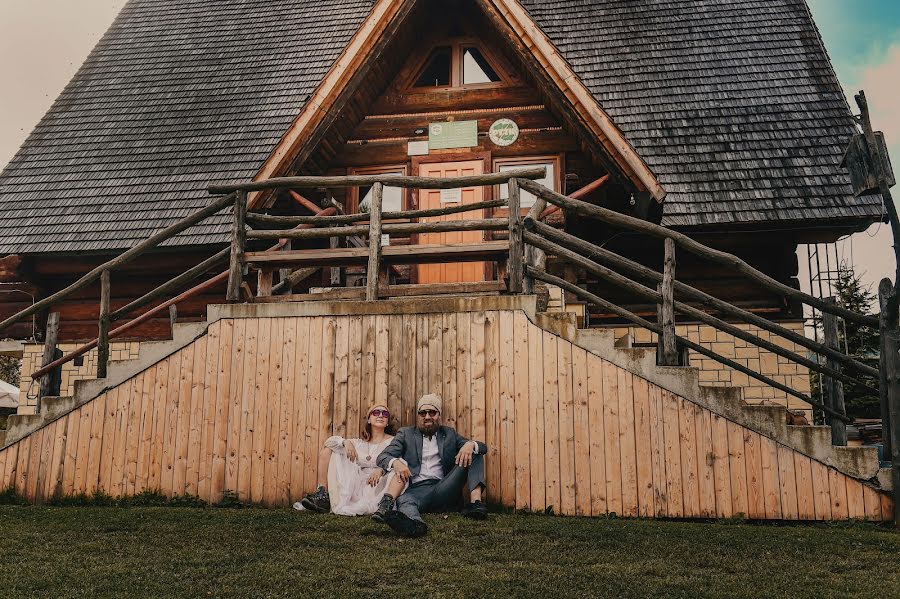
<instances>
[{"instance_id":1,"label":"light brown vertical-plank wall beneath the porch, behind the couple","mask_svg":"<svg viewBox=\"0 0 900 599\"><path fill-rule=\"evenodd\" d=\"M290 505L330 435L416 398L489 448L508 506L600 516L886 520L885 493L531 324L523 312L222 320L0 452L0 488Z\"/></svg>"}]
</instances>

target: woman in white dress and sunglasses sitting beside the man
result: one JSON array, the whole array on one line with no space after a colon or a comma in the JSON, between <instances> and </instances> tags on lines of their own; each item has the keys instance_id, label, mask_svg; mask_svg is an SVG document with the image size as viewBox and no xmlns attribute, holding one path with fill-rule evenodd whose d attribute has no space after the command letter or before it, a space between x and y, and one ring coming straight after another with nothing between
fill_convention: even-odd
<instances>
[{"instance_id":1,"label":"woman in white dress and sunglasses sitting beside the man","mask_svg":"<svg viewBox=\"0 0 900 599\"><path fill-rule=\"evenodd\" d=\"M393 435L390 410L381 405L369 408L362 438L335 436L325 441L325 448L319 453L318 489L295 503L294 507L345 516L374 513L394 477L393 473L386 475L375 460L394 438ZM336 488L328 488L329 478Z\"/></svg>"}]
</instances>

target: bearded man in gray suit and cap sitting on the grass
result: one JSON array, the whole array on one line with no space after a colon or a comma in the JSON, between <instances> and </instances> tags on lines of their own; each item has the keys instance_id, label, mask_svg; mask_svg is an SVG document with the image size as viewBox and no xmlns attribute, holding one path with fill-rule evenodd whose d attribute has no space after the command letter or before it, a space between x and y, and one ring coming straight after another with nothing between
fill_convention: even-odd
<instances>
[{"instance_id":1,"label":"bearded man in gray suit and cap sitting on the grass","mask_svg":"<svg viewBox=\"0 0 900 599\"><path fill-rule=\"evenodd\" d=\"M393 471L409 488L396 498L386 493L372 518L407 537L428 532L421 512L444 512L459 507L464 484L470 503L462 510L468 518L483 520L485 488L484 455L487 446L469 441L449 426L441 426L442 403L438 395L426 395L416 405L416 426L401 428L378 456L385 471Z\"/></svg>"}]
</instances>

